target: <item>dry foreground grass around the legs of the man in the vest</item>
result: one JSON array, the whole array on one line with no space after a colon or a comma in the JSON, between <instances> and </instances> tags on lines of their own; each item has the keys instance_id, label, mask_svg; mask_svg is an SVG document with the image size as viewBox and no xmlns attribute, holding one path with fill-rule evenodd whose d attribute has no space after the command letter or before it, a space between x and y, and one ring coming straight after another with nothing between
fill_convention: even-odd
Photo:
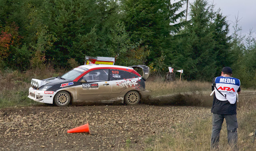
<instances>
[{"instance_id":1,"label":"dry foreground grass around the legs of the man in the vest","mask_svg":"<svg viewBox=\"0 0 256 151\"><path fill-rule=\"evenodd\" d=\"M252 143L256 123L256 96L252 93L240 95L238 102L238 147L240 151L252 151L256 142ZM158 136L149 136L146 139L147 151L209 151L212 131L212 117L198 118L194 123L176 125L174 131ZM162 136L162 137L161 137ZM164 136L164 137L163 137ZM147 140L151 139L150 142ZM228 145L226 121L220 132L220 151L232 151Z\"/></svg>"}]
</instances>

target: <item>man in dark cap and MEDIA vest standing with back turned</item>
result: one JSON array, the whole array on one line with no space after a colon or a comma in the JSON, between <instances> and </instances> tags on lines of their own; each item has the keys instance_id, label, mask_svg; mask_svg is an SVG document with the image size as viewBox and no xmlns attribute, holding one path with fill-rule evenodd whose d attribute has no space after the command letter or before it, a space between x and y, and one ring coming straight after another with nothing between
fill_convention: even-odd
<instances>
[{"instance_id":1,"label":"man in dark cap and MEDIA vest standing with back turned","mask_svg":"<svg viewBox=\"0 0 256 151\"><path fill-rule=\"evenodd\" d=\"M211 149L218 149L220 130L224 118L228 131L228 143L236 148L237 143L237 117L236 100L240 94L240 80L232 77L232 69L224 67L220 77L212 80L213 103L212 103L212 138Z\"/></svg>"}]
</instances>

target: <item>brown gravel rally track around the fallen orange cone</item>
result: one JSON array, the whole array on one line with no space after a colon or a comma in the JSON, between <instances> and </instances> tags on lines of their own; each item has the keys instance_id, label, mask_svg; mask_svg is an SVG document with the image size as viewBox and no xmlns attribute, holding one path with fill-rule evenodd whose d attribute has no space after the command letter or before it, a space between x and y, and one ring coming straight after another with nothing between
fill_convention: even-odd
<instances>
[{"instance_id":1,"label":"brown gravel rally track around the fallen orange cone","mask_svg":"<svg viewBox=\"0 0 256 151\"><path fill-rule=\"evenodd\" d=\"M0 109L0 150L143 150L147 135L211 115L210 108L170 105L35 106ZM67 133L90 123L92 135Z\"/></svg>"}]
</instances>

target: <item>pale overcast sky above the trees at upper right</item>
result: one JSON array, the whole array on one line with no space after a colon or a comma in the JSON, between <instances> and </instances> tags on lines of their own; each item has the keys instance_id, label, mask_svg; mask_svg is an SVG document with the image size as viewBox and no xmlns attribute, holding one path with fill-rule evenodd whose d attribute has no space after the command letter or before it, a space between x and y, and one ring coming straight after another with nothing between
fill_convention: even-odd
<instances>
[{"instance_id":1,"label":"pale overcast sky above the trees at upper right","mask_svg":"<svg viewBox=\"0 0 256 151\"><path fill-rule=\"evenodd\" d=\"M189 4L194 1L188 0ZM209 4L213 2L215 9L220 8L222 14L227 16L228 22L230 23L230 34L234 32L232 26L238 16L238 19L240 19L238 24L242 26L242 34L247 34L252 29L254 31L254 37L256 37L256 0L208 0L208 2ZM183 9L186 9L186 5Z\"/></svg>"}]
</instances>

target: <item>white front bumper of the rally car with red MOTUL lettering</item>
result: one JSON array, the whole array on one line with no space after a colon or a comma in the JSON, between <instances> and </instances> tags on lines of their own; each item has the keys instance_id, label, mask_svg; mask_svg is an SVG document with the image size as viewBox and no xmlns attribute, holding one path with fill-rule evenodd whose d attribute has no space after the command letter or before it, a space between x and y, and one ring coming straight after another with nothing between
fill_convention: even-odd
<instances>
[{"instance_id":1,"label":"white front bumper of the rally car with red MOTUL lettering","mask_svg":"<svg viewBox=\"0 0 256 151\"><path fill-rule=\"evenodd\" d=\"M54 95L56 93L57 92L54 92L54 91L40 91L30 87L28 89L28 98L40 103L52 104Z\"/></svg>"}]
</instances>

